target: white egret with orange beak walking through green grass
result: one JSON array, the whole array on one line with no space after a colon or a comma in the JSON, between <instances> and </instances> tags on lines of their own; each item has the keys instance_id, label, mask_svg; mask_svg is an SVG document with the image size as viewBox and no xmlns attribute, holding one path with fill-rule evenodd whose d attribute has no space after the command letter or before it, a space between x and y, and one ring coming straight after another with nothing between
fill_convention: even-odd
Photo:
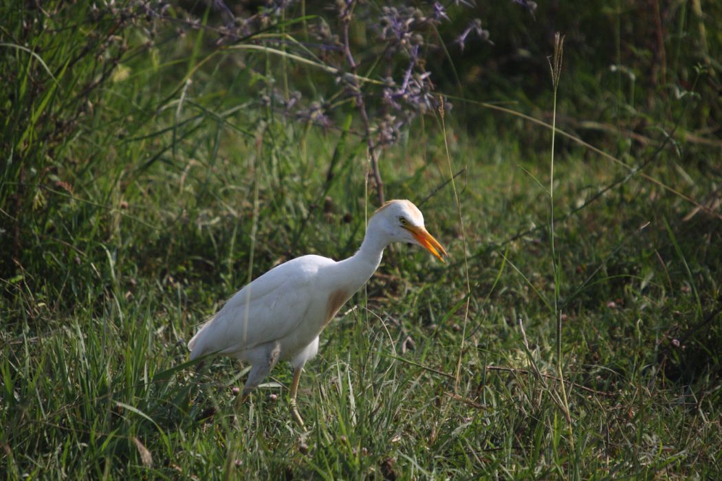
<instances>
[{"instance_id":1,"label":"white egret with orange beak walking through green grass","mask_svg":"<svg viewBox=\"0 0 722 481\"><path fill-rule=\"evenodd\" d=\"M238 291L188 343L191 360L214 353L251 363L240 402L278 361L290 361L291 413L303 426L296 404L303 366L318 352L318 335L373 275L391 242L418 244L442 262L448 256L425 229L417 206L409 200L390 200L373 214L361 248L352 257L339 262L319 255L297 257Z\"/></svg>"}]
</instances>

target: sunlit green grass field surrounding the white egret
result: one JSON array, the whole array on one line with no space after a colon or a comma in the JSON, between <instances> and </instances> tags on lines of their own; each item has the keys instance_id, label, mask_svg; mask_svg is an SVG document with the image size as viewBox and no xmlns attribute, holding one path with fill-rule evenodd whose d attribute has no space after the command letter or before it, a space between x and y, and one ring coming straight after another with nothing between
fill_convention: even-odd
<instances>
[{"instance_id":1,"label":"sunlit green grass field surrounding the white egret","mask_svg":"<svg viewBox=\"0 0 722 481\"><path fill-rule=\"evenodd\" d=\"M355 252L378 206L355 112L283 115L269 86L316 81L287 58L53 5L3 12L8 479L718 479L721 146L697 84L625 104L642 133L586 136L565 71L553 154L550 80L409 125L386 198L451 258L386 251L306 365L303 429L288 366L236 407L245 366L186 343L279 262Z\"/></svg>"}]
</instances>

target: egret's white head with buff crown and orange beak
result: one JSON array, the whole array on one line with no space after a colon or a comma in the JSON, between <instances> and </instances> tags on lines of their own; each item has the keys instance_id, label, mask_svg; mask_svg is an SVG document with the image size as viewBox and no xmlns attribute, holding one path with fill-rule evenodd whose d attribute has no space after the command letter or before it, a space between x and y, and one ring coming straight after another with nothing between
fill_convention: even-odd
<instances>
[{"instance_id":1,"label":"egret's white head with buff crown and orange beak","mask_svg":"<svg viewBox=\"0 0 722 481\"><path fill-rule=\"evenodd\" d=\"M424 226L424 216L410 200L389 200L373 214L375 224L388 242L409 242L424 247L443 262L448 253Z\"/></svg>"}]
</instances>

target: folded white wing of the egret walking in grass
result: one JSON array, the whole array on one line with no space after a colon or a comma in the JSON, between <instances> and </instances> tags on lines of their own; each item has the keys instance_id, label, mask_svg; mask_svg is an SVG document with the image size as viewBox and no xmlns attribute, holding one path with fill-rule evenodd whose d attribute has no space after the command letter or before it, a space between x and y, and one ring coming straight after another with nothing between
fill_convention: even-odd
<instances>
[{"instance_id":1,"label":"folded white wing of the egret walking in grass","mask_svg":"<svg viewBox=\"0 0 722 481\"><path fill-rule=\"evenodd\" d=\"M193 336L191 359L251 349L290 334L308 312L318 268L332 262L297 257L242 288Z\"/></svg>"}]
</instances>

